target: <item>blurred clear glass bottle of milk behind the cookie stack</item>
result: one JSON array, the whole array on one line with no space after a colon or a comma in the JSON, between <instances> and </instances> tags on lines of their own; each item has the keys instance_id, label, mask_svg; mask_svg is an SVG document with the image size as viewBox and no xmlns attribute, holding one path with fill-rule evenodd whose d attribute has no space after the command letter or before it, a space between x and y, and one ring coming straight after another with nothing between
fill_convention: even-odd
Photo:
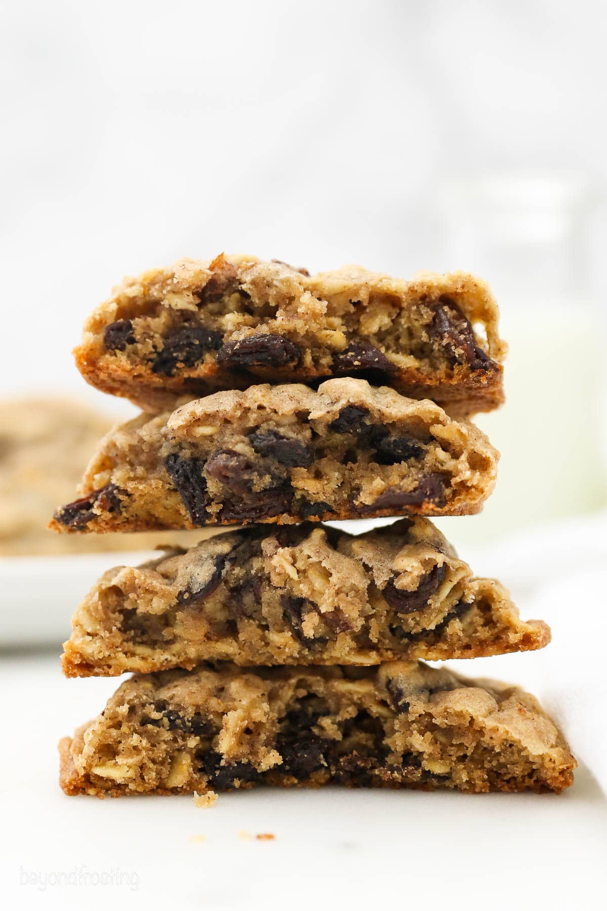
<instances>
[{"instance_id":1,"label":"blurred clear glass bottle of milk behind the cookie stack","mask_svg":"<svg viewBox=\"0 0 607 911\"><path fill-rule=\"evenodd\" d=\"M588 184L500 176L443 190L441 267L490 282L510 346L506 403L474 418L501 451L495 492L480 516L439 522L465 553L607 505L607 319L593 293Z\"/></svg>"}]
</instances>

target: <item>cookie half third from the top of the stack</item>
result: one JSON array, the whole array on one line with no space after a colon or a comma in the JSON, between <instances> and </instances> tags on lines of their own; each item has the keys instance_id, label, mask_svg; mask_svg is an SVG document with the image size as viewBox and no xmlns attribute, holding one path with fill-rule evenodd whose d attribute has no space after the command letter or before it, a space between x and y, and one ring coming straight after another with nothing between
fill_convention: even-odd
<instances>
[{"instance_id":1,"label":"cookie half third from the top of the stack","mask_svg":"<svg viewBox=\"0 0 607 911\"><path fill-rule=\"evenodd\" d=\"M472 578L428 519L359 537L252 526L110 569L76 610L68 676L240 665L379 664L539 649L492 579Z\"/></svg>"}]
</instances>

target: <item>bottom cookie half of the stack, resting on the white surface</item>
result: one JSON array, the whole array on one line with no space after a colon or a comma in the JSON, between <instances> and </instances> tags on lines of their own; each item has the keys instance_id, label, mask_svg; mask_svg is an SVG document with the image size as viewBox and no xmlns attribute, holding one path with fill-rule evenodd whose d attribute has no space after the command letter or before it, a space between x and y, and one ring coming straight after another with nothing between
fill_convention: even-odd
<instances>
[{"instance_id":1,"label":"bottom cookie half of the stack, resting on the white surface","mask_svg":"<svg viewBox=\"0 0 607 911\"><path fill-rule=\"evenodd\" d=\"M556 791L575 760L529 694L402 661L137 675L60 745L68 794L255 784Z\"/></svg>"}]
</instances>

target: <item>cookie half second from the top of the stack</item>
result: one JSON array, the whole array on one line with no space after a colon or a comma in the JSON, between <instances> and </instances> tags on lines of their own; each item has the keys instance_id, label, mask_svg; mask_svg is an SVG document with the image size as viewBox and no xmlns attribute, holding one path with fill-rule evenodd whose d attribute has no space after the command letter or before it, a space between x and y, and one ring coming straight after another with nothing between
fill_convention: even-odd
<instances>
[{"instance_id":1,"label":"cookie half second from the top of the stack","mask_svg":"<svg viewBox=\"0 0 607 911\"><path fill-rule=\"evenodd\" d=\"M56 531L478 512L498 453L439 405L364 380L251 386L106 436Z\"/></svg>"}]
</instances>

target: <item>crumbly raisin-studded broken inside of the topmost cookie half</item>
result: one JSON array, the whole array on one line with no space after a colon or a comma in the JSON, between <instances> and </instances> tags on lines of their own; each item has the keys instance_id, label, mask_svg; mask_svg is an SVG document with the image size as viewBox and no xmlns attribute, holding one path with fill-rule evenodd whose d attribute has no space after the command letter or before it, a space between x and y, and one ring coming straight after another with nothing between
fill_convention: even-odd
<instances>
[{"instance_id":1,"label":"crumbly raisin-studded broken inside of the topmost cookie half","mask_svg":"<svg viewBox=\"0 0 607 911\"><path fill-rule=\"evenodd\" d=\"M204 300L204 289L192 301ZM340 295L323 302L322 318L309 319L291 302L270 302L228 286L204 307L177 309L163 302L135 300L104 329L108 352L126 352L133 363L155 374L196 375L197 364L227 369L299 368L319 377L351 371L388 373L390 364L415 367L421 374L456 365L491 370L470 322L457 303L443 295L420 299L403 309L394 295L375 293L368 305ZM137 315L135 315L137 314ZM262 332L259 330L262 328Z\"/></svg>"}]
</instances>

